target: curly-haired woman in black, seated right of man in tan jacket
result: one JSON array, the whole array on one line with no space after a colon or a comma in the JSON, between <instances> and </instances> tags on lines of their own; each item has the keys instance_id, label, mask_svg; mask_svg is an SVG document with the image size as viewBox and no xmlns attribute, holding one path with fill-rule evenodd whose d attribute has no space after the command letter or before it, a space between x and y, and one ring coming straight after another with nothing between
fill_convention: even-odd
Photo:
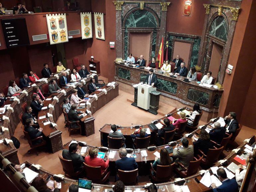
<instances>
[{"instance_id":1,"label":"curly-haired woman in black, seated right of man in tan jacket","mask_svg":"<svg viewBox=\"0 0 256 192\"><path fill-rule=\"evenodd\" d=\"M195 141L195 139L198 140ZM198 137L193 135L192 142L194 145L194 153L198 153L198 149L200 149L204 154L207 155L208 149L213 149L210 136L204 129L201 129Z\"/></svg>"}]
</instances>

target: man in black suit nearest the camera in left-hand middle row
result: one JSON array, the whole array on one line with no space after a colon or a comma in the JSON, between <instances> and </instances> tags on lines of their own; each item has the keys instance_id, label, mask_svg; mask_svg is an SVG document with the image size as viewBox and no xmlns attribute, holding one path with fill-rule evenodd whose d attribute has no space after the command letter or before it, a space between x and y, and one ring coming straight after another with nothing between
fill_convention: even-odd
<instances>
[{"instance_id":1,"label":"man in black suit nearest the camera in left-hand middle row","mask_svg":"<svg viewBox=\"0 0 256 192\"><path fill-rule=\"evenodd\" d=\"M29 137L30 137L31 140L36 139L36 138L42 136L42 131L43 131L42 128L35 129L33 127L33 125L34 125L34 121L33 121L32 118L29 118L29 119L26 120L26 126L25 126L24 130L26 132L28 132ZM32 143L34 145L38 145L38 144L41 144L42 142L43 142L42 140L37 140L37 141L33 141Z\"/></svg>"}]
</instances>

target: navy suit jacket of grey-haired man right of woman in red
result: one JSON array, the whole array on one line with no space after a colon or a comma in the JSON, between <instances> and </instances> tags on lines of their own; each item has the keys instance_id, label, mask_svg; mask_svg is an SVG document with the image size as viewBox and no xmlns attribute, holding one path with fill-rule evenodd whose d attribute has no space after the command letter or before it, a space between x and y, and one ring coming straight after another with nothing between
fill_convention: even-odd
<instances>
[{"instance_id":1,"label":"navy suit jacket of grey-haired man right of woman in red","mask_svg":"<svg viewBox=\"0 0 256 192\"><path fill-rule=\"evenodd\" d=\"M138 164L133 157L122 157L116 161L116 170L131 171L138 168Z\"/></svg>"}]
</instances>

